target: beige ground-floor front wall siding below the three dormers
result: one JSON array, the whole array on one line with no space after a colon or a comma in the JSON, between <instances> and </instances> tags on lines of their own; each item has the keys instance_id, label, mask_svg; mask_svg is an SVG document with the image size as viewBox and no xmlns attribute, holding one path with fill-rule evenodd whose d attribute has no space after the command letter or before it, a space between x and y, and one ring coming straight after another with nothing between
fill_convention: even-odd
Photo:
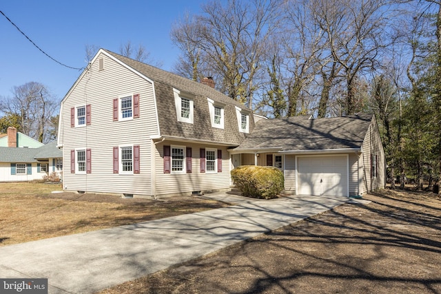
<instances>
[{"instance_id":1,"label":"beige ground-floor front wall siding below the three dormers","mask_svg":"<svg viewBox=\"0 0 441 294\"><path fill-rule=\"evenodd\" d=\"M187 174L164 174L164 145L182 146L192 148L192 173ZM222 150L222 172L201 173L200 171L200 149L212 148ZM183 143L177 141L165 141L158 143L155 149L156 158L156 196L188 195L192 191L214 191L229 189L229 153L227 147ZM171 159L170 159L171 165Z\"/></svg>"}]
</instances>

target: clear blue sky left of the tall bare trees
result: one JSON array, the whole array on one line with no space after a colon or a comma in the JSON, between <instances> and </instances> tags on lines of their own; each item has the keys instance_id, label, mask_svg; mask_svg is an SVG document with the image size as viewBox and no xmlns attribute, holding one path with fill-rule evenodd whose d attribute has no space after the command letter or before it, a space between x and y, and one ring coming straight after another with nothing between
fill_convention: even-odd
<instances>
[{"instance_id":1,"label":"clear blue sky left of the tall bare trees","mask_svg":"<svg viewBox=\"0 0 441 294\"><path fill-rule=\"evenodd\" d=\"M142 44L150 59L172 70L179 51L170 40L172 24L185 12L201 12L203 0L2 0L6 14L39 48L70 67L83 67L85 45L119 52ZM0 14L0 96L35 81L61 101L81 74L45 56Z\"/></svg>"}]
</instances>

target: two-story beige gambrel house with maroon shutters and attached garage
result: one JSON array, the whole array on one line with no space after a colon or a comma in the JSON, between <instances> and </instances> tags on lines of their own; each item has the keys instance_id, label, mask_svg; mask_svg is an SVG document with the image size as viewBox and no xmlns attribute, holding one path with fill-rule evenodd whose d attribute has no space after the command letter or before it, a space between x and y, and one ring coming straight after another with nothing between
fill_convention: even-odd
<instances>
[{"instance_id":1,"label":"two-story beige gambrel house with maroon shutters and attached garage","mask_svg":"<svg viewBox=\"0 0 441 294\"><path fill-rule=\"evenodd\" d=\"M294 120L299 122L291 124ZM335 123L320 123L322 120ZM332 131L331 136L347 136L347 128L353 124L351 128L360 131L357 136L362 136L362 142L351 138L352 143L337 148L323 144L311 153L295 149L300 146L297 140L312 140L296 135L300 133L295 128L302 129L303 121L317 127L305 136L321 134L324 140L328 131ZM320 130L320 126L329 125L340 131ZM232 185L231 169L254 164L283 169L287 191L305 193L300 179L316 170L311 167L308 172L304 166L313 162L316 167L317 157L311 155L320 154L324 160L319 161L331 160L329 165L340 165L344 161L341 158L346 158L346 174L339 176L346 182L335 183L341 189L318 192L314 188L308 192L349 196L384 186L384 152L379 136L375 140L377 153L372 153L375 174L366 179L366 185L362 182L362 176L367 175L364 170L371 168L366 160L359 159L367 156L369 132L378 136L372 116L268 120L214 90L211 78L196 83L101 49L61 102L58 147L63 149L65 162L70 162L63 174L63 189L68 191L153 197L227 191ZM276 143L285 138L278 137L282 133L286 138L292 135L292 140ZM301 167L298 171L297 165Z\"/></svg>"}]
</instances>

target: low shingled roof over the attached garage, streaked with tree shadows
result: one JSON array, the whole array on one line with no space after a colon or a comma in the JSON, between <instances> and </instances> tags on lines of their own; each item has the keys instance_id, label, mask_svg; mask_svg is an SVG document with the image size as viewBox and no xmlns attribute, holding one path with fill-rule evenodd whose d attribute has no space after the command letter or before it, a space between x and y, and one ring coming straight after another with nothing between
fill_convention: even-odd
<instances>
[{"instance_id":1,"label":"low shingled roof over the attached garage, streaked with tree shadows","mask_svg":"<svg viewBox=\"0 0 441 294\"><path fill-rule=\"evenodd\" d=\"M280 151L360 148L373 115L309 119L294 116L259 120L254 132L236 149Z\"/></svg>"}]
</instances>

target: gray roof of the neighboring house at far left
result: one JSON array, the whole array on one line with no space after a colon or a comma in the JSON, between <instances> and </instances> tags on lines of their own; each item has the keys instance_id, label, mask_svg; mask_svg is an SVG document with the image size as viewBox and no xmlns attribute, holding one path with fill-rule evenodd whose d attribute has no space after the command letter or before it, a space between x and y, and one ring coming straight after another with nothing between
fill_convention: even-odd
<instances>
[{"instance_id":1,"label":"gray roof of the neighboring house at far left","mask_svg":"<svg viewBox=\"0 0 441 294\"><path fill-rule=\"evenodd\" d=\"M56 147L56 143L39 148L0 147L0 162L37 162L37 159L61 158L63 153Z\"/></svg>"}]
</instances>

